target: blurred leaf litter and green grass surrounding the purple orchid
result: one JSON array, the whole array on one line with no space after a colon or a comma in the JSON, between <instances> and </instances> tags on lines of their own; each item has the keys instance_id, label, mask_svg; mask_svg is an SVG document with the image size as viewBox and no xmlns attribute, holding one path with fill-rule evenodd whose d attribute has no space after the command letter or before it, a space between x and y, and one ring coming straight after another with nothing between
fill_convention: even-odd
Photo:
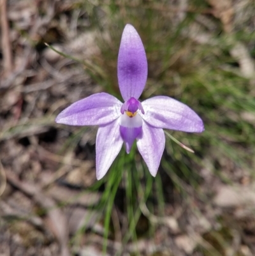
<instances>
[{"instance_id":1,"label":"blurred leaf litter and green grass surrounding the purple orchid","mask_svg":"<svg viewBox=\"0 0 255 256\"><path fill-rule=\"evenodd\" d=\"M253 0L0 3L1 255L255 255ZM93 93L122 100L127 23L147 53L141 100L180 100L205 132L166 131L156 178L133 146L96 181L97 128L54 119Z\"/></svg>"}]
</instances>

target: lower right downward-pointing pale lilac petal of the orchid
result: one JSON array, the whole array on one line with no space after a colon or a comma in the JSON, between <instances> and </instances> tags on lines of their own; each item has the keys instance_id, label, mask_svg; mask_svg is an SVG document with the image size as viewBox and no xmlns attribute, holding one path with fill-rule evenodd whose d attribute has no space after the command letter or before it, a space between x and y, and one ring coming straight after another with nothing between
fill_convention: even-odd
<instances>
[{"instance_id":1,"label":"lower right downward-pointing pale lilac petal of the orchid","mask_svg":"<svg viewBox=\"0 0 255 256\"><path fill-rule=\"evenodd\" d=\"M153 177L159 169L165 140L163 129L154 128L143 121L142 132L137 138L137 147Z\"/></svg>"}]
</instances>

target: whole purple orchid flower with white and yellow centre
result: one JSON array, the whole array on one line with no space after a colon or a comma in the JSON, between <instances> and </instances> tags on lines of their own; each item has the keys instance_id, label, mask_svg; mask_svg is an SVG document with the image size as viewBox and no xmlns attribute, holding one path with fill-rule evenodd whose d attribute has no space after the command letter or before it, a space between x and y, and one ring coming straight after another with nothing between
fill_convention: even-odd
<instances>
[{"instance_id":1,"label":"whole purple orchid flower with white and yellow centre","mask_svg":"<svg viewBox=\"0 0 255 256\"><path fill-rule=\"evenodd\" d=\"M163 128L203 132L203 121L187 105L167 96L139 102L147 80L147 58L135 28L124 28L118 57L119 88L124 103L107 93L96 93L73 103L55 119L69 125L99 125L96 136L96 177L101 179L122 144L129 153L137 141L138 151L156 176L164 151Z\"/></svg>"}]
</instances>

